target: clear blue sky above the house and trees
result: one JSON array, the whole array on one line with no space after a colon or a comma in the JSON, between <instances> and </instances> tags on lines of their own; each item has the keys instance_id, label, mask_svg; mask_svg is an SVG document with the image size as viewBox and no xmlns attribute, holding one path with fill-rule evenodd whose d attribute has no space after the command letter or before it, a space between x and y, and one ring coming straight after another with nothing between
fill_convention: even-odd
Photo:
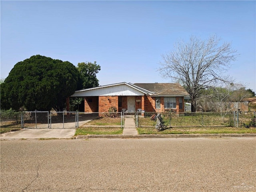
<instances>
[{"instance_id":1,"label":"clear blue sky above the house and trees","mask_svg":"<svg viewBox=\"0 0 256 192\"><path fill-rule=\"evenodd\" d=\"M256 92L256 1L4 1L1 78L40 54L101 66L100 85L170 82L161 54L190 35L232 42L240 56L228 74Z\"/></svg>"}]
</instances>

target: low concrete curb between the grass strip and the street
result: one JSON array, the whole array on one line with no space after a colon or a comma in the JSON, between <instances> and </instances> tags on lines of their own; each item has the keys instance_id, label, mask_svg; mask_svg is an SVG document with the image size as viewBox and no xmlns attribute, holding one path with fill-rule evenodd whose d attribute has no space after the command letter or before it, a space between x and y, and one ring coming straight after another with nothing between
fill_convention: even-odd
<instances>
[{"instance_id":1,"label":"low concrete curb between the grass strip and the street","mask_svg":"<svg viewBox=\"0 0 256 192\"><path fill-rule=\"evenodd\" d=\"M76 139L125 139L125 138L238 138L255 137L256 134L157 134L157 135L78 135Z\"/></svg>"}]
</instances>

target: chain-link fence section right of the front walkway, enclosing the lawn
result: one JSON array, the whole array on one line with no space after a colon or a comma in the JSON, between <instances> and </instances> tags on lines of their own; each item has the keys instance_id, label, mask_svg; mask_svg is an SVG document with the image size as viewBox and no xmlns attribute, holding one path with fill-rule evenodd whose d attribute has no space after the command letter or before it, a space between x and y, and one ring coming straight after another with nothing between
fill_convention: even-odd
<instances>
[{"instance_id":1,"label":"chain-link fence section right of the front walkway, enclosing the lawn","mask_svg":"<svg viewBox=\"0 0 256 192\"><path fill-rule=\"evenodd\" d=\"M143 116L138 115L137 127L156 126L156 122L151 120L151 116L156 112L145 112ZM162 120L166 127L184 126L250 126L255 121L255 112L164 112ZM252 122L252 123L251 123Z\"/></svg>"}]
</instances>

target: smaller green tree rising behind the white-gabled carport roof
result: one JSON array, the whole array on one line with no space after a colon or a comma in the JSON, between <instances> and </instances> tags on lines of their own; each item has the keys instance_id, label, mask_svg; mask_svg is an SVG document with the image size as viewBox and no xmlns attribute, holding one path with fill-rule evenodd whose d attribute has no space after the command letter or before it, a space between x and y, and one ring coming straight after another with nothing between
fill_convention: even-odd
<instances>
[{"instance_id":1,"label":"smaller green tree rising behind the white-gabled carport roof","mask_svg":"<svg viewBox=\"0 0 256 192\"><path fill-rule=\"evenodd\" d=\"M77 69L82 80L82 88L92 88L99 86L99 80L96 74L100 71L100 66L92 62L82 62L78 63Z\"/></svg>"}]
</instances>

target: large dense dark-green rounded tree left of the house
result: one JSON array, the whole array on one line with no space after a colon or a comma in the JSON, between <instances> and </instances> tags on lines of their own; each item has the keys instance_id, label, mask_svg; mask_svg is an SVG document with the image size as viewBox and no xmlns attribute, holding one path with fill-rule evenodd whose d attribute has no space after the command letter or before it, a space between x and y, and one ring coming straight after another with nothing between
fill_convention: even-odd
<instances>
[{"instance_id":1,"label":"large dense dark-green rounded tree left of the house","mask_svg":"<svg viewBox=\"0 0 256 192\"><path fill-rule=\"evenodd\" d=\"M63 110L66 98L75 92L78 82L78 70L72 63L32 56L15 64L1 84L1 108Z\"/></svg>"}]
</instances>

